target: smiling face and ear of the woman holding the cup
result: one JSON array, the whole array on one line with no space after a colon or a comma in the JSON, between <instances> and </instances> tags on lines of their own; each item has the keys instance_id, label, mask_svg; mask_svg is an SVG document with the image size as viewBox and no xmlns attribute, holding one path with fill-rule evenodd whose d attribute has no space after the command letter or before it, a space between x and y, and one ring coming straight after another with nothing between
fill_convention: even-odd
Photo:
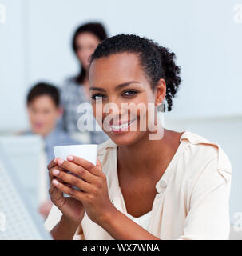
<instances>
[{"instance_id":1,"label":"smiling face and ear of the woman holding the cup","mask_svg":"<svg viewBox=\"0 0 242 256\"><path fill-rule=\"evenodd\" d=\"M127 146L149 134L148 105L163 101L165 82L153 90L136 54L112 54L94 60L89 85L94 116L113 142ZM109 103L111 107L107 107ZM130 103L134 107L129 107Z\"/></svg>"}]
</instances>

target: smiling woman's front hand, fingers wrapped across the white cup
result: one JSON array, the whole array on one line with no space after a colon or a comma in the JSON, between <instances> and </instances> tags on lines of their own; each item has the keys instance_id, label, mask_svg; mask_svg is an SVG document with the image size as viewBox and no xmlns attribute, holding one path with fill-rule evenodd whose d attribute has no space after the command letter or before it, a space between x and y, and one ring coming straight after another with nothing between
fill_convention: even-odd
<instances>
[{"instance_id":1,"label":"smiling woman's front hand, fingers wrapped across the white cup","mask_svg":"<svg viewBox=\"0 0 242 256\"><path fill-rule=\"evenodd\" d=\"M58 166L80 178L61 170L55 171L53 174L62 181L76 186L81 191L65 186L55 179L56 182L53 180L52 184L63 193L81 201L85 212L93 222L101 222L114 207L109 199L107 181L101 170L101 163L97 161L97 166L94 166L91 162L76 156L69 156L67 160L64 161L58 158Z\"/></svg>"}]
</instances>

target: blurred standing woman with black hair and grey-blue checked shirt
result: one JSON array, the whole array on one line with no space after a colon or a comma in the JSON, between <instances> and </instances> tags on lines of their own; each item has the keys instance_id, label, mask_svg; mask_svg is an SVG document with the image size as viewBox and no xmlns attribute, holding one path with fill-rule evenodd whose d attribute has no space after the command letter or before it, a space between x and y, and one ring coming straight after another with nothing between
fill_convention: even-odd
<instances>
[{"instance_id":1,"label":"blurred standing woman with black hair and grey-blue checked shirt","mask_svg":"<svg viewBox=\"0 0 242 256\"><path fill-rule=\"evenodd\" d=\"M68 78L61 90L61 105L63 117L60 126L79 142L100 144L108 139L102 131L81 132L78 130L78 119L81 114L77 108L81 103L90 102L89 96L89 57L93 54L97 45L107 38L104 26L101 23L91 22L79 26L73 35L72 47L81 70L77 76ZM86 115L93 118L93 112ZM93 118L93 120L95 120ZM94 124L97 125L95 121Z\"/></svg>"}]
</instances>

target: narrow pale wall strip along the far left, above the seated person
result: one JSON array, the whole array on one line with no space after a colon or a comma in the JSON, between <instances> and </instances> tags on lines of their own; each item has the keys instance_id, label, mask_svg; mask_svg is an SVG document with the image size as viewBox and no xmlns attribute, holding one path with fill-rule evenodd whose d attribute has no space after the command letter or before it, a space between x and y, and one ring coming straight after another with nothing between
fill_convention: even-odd
<instances>
[{"instance_id":1,"label":"narrow pale wall strip along the far left, above the seated person","mask_svg":"<svg viewBox=\"0 0 242 256\"><path fill-rule=\"evenodd\" d=\"M0 130L26 125L25 6L21 0L0 0L6 6L6 23L0 23Z\"/></svg>"}]
</instances>

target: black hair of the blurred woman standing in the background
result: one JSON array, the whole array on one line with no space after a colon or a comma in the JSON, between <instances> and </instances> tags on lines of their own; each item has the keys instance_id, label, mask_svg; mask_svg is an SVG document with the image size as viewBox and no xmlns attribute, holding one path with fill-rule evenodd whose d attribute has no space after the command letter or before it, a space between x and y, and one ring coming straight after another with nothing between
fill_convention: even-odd
<instances>
[{"instance_id":1,"label":"black hair of the blurred woman standing in the background","mask_svg":"<svg viewBox=\"0 0 242 256\"><path fill-rule=\"evenodd\" d=\"M77 36L84 32L89 32L91 34L94 34L100 41L103 41L105 38L108 37L105 31L105 28L103 25L101 25L101 23L99 22L85 23L84 25L79 26L73 35L72 47L73 47L74 53L77 52L77 44L76 44ZM84 82L85 75L86 75L85 69L81 68L81 71L75 78L75 81L78 84L81 84L82 82Z\"/></svg>"}]
</instances>

